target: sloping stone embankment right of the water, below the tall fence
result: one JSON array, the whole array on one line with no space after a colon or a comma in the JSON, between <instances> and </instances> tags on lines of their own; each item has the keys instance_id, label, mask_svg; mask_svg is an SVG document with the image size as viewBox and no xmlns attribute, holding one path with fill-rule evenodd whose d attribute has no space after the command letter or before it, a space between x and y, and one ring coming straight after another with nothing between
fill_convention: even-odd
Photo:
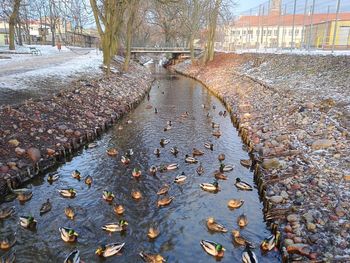
<instances>
[{"instance_id":1,"label":"sloping stone embankment right of the water, below the tall fence","mask_svg":"<svg viewBox=\"0 0 350 263\"><path fill-rule=\"evenodd\" d=\"M350 262L350 57L218 54L175 70L231 111L284 257Z\"/></svg>"}]
</instances>

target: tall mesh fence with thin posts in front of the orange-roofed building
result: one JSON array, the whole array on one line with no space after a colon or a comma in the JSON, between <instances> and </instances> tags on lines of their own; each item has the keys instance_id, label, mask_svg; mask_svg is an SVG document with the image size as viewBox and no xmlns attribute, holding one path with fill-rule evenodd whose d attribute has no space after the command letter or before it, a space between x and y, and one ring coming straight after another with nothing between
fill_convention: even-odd
<instances>
[{"instance_id":1,"label":"tall mesh fence with thin posts in front of the orange-roofed building","mask_svg":"<svg viewBox=\"0 0 350 263\"><path fill-rule=\"evenodd\" d=\"M350 50L350 0L270 0L224 27L222 49Z\"/></svg>"}]
</instances>

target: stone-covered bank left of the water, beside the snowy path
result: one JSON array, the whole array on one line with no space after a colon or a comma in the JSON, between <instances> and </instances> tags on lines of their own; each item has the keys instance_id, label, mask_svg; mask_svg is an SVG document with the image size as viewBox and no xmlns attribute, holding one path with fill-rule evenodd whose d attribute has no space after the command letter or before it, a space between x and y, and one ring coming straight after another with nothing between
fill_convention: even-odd
<instances>
[{"instance_id":1,"label":"stone-covered bank left of the water, beside the snowy path","mask_svg":"<svg viewBox=\"0 0 350 263\"><path fill-rule=\"evenodd\" d=\"M62 162L110 127L150 89L150 71L132 63L130 73L78 80L41 100L0 108L0 196Z\"/></svg>"}]
</instances>

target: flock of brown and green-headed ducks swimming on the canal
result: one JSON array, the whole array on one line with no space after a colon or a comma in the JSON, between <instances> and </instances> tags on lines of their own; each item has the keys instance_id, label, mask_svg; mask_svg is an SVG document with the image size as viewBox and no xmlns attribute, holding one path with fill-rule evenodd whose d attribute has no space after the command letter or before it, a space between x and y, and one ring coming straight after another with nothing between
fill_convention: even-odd
<instances>
[{"instance_id":1,"label":"flock of brown and green-headed ducks swimming on the canal","mask_svg":"<svg viewBox=\"0 0 350 263\"><path fill-rule=\"evenodd\" d=\"M203 107L205 108L206 106L203 105ZM213 106L213 109L215 110L215 106ZM158 113L157 109L155 109L155 113ZM226 116L227 112L226 111L220 112L219 115ZM189 116L189 113L185 112L181 115L181 118L187 118L188 116ZM173 128L173 123L171 121L168 121L166 123L166 126L164 127L164 131L169 131L172 128ZM213 128L212 135L215 137L220 137L221 136L220 125L213 122L212 128ZM169 143L170 143L170 141L168 139L162 138L160 140L160 146L163 149ZM89 145L89 147L95 147L95 146L96 146L95 144ZM206 142L206 143L204 143L204 148L207 150L213 151L214 145L211 142ZM109 156L117 156L119 154L117 149L114 149L114 148L108 149L106 151L106 153ZM156 148L153 153L157 157L159 157L161 155L161 149ZM174 146L170 149L170 153L177 156L179 154L179 150L176 146ZM204 154L205 154L204 151L197 149L197 148L193 148L192 154L191 155L186 154L185 158L184 158L185 163L188 163L188 164L199 163L199 166L196 169L196 172L198 175L202 175L205 173L205 169L204 169L202 163L199 162L197 159L197 157L200 157ZM125 152L125 154L123 156L121 156L121 162L124 165L129 165L132 156L133 156L133 150L132 149L127 150ZM211 193L216 193L216 192L220 191L219 180L227 180L227 175L225 175L225 173L228 173L234 169L233 165L224 164L224 160L225 160L225 154L223 154L223 153L219 154L218 155L219 166L218 166L218 170L216 170L214 172L214 180L211 183L201 183L199 185L199 187L202 190L207 191L207 192L211 192ZM245 167L250 167L251 161L250 160L241 160L241 164ZM173 170L176 170L178 168L179 168L179 165L177 163L173 163L173 164L169 164L169 165L161 165L161 166L153 165L149 168L149 174L156 175L158 172L173 171ZM82 175L78 170L73 171L71 175L73 178L75 178L77 180L82 179ZM138 167L135 167L132 170L132 176L136 179L140 179L142 176L142 171ZM58 179L59 179L58 174L49 174L47 176L47 180L49 183L57 181ZM182 184L186 181L186 179L187 179L187 176L185 175L184 172L182 172L181 174L179 174L175 177L173 183L174 184ZM93 178L91 176L86 176L84 178L84 182L89 187L91 187L91 185L93 184ZM236 178L235 186L237 187L237 189L243 190L243 191L252 191L253 190L253 187L250 184L248 184L247 182L244 182L240 178ZM159 198L157 200L157 207L168 206L174 200L174 198L175 198L174 196L168 195L168 191L169 191L170 187L171 187L171 185L164 184L157 191L157 195L159 196ZM58 190L58 192L62 197L65 197L65 198L75 198L75 196L77 194L77 192L74 188L60 189L60 190ZM17 191L16 194L17 194L17 199L21 203L25 203L32 198L32 192L29 191L28 189L24 189L22 191ZM141 192L137 191L137 190L133 190L131 192L131 196L135 200L142 198ZM115 195L112 192L105 190L102 192L102 198L106 202L112 203L114 198L115 198ZM244 205L244 200L239 200L239 199L231 199L227 203L227 206L232 210L239 209L243 205ZM51 209L52 209L52 205L50 203L50 200L47 199L46 202L43 203L41 208L40 208L40 214L42 215L42 214L48 213L49 211L51 211ZM114 205L113 210L117 215L123 215L125 212L125 208L121 204ZM15 212L14 207L7 207L4 209L1 209L0 210L0 219L5 219L8 217L11 217L14 212ZM64 209L64 213L67 216L67 218L69 218L69 219L74 219L74 217L75 217L74 208L71 206L67 206ZM31 215L20 216L19 217L19 224L21 225L21 227L26 228L26 229L35 229L37 227L37 221ZM248 225L248 218L244 213L241 214L240 216L238 216L237 225L240 228L244 228ZM206 226L210 232L219 232L219 233L227 233L228 232L228 229L225 226L223 226L222 224L218 223L213 217L209 217L207 219ZM118 222L108 223L108 224L103 225L102 230L110 232L110 233L122 232L122 231L127 230L127 227L128 227L128 222L126 220L121 219ZM60 233L61 239L64 242L74 243L77 241L77 239L79 237L79 234L72 228L60 227L58 229L58 231ZM150 239L155 239L159 235L160 235L160 231L157 227L152 226L149 228L147 236ZM263 242L261 243L261 246L260 246L261 249L263 251L270 251L270 250L274 249L275 247L277 247L278 242L279 242L279 236L280 236L280 233L277 230L277 226L273 226L272 235L263 240ZM246 238L242 237L239 230L234 229L232 231L232 238L233 238L234 244L245 246L245 250L242 253L242 261L244 263L256 263L256 262L258 262L258 259L255 255L255 253L253 252L254 245L250 241L248 241ZM6 238L3 238L2 240L0 240L0 248L2 250L10 250L11 247L13 247L15 245L15 243L16 243L16 237L14 234L12 236L12 238L6 237ZM225 254L225 251L226 251L226 249L223 247L222 244L214 242L214 241L210 241L210 240L201 240L200 245L206 253L208 253L209 255L214 256L216 258L222 258ZM101 244L100 246L97 247L95 254L98 256L104 257L104 258L111 257L113 255L120 253L120 251L123 249L124 246L125 246L125 243L121 243L121 242L110 243L110 244ZM145 262L150 262L150 263L166 262L164 257L161 256L160 254L148 254L148 253L145 253L142 251L139 253L139 255ZM9 251L7 254L5 254L2 257L2 262L6 262L6 263L15 262L15 253L13 251ZM81 262L79 250L75 249L75 250L71 251L67 255L64 262L65 263Z\"/></svg>"}]
</instances>

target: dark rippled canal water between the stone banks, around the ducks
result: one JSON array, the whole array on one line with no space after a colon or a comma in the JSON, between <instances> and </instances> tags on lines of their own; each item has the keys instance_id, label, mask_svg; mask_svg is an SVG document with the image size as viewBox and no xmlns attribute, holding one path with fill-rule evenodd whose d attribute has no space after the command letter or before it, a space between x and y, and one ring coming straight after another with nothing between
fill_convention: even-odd
<instances>
[{"instance_id":1,"label":"dark rippled canal water between the stone banks, around the ducks","mask_svg":"<svg viewBox=\"0 0 350 263\"><path fill-rule=\"evenodd\" d=\"M253 192L238 191L234 186L236 177L253 184L253 174L239 164L240 159L247 159L248 154L242 150L242 143L229 117L220 117L219 111L223 105L198 82L176 75L171 78L169 73L160 72L157 81L150 92L150 101L141 103L133 112L103 136L93 149L83 150L71 161L58 169L60 179L52 185L46 182L46 176L32 182L33 198L20 205L17 200L5 205L14 205L17 213L10 219L0 222L1 236L17 232L18 242L15 245L18 262L63 262L65 256L74 248L81 252L85 262L141 262L138 253L141 250L160 253L168 262L215 262L199 245L201 239L220 242L226 248L222 262L241 262L243 247L232 244L231 231L238 229L236 219L241 213L246 213L249 224L241 230L241 234L256 244L254 250L259 262L279 262L277 252L267 255L260 253L259 244L270 232L263 220L262 204L259 202L257 190ZM159 88L158 88L159 86ZM202 104L210 110L203 109ZM159 110L146 109L153 105ZM212 105L216 109L211 108ZM179 116L189 112L188 118ZM210 112L213 119L206 115ZM126 124L132 120L131 124ZM166 122L171 120L173 128L163 131ZM211 121L219 123L222 136L216 139L211 135ZM118 130L118 126L123 130ZM160 148L161 138L170 143L161 148L161 155L157 158L153 151ZM204 142L214 143L214 151L204 148ZM170 153L170 148L177 146L178 157ZM116 147L117 157L109 157L106 149ZM205 151L198 157L202 162L205 173L196 174L198 164L186 164L184 155L191 154L196 147ZM120 162L121 153L132 148L135 152L129 166ZM213 181L213 172L218 169L219 153L225 153L226 164L235 165L235 169L227 173L228 180L219 181L221 191L217 194L208 193L200 189L199 184ZM151 165L178 163L179 169L173 172L158 173L153 177L148 174ZM142 176L136 181L131 176L134 167L142 169ZM88 188L84 180L77 181L71 173L75 169L83 176L91 175L93 185ZM175 176L185 172L188 176L183 185L172 183ZM173 202L164 208L157 208L156 192L164 184L171 184L170 195ZM77 196L74 199L62 198L57 190L74 187ZM112 191L116 203L125 206L124 216L117 216L113 206L102 199L103 190ZM138 189L143 199L134 201L131 190ZM43 202L50 198L53 209L43 216L39 209ZM227 207L227 201L232 198L244 199L245 204L234 211ZM71 205L76 210L74 221L64 215L64 207ZM18 216L32 214L38 220L37 231L23 229L18 224ZM213 216L218 222L228 228L228 233L209 233L206 219ZM118 221L120 218L129 222L126 233L108 234L101 226ZM154 241L147 237L148 227L152 224L159 226L160 236ZM67 244L60 238L58 227L73 227L78 233L78 242ZM102 260L94 255L95 249L101 243L126 242L122 255Z\"/></svg>"}]
</instances>

